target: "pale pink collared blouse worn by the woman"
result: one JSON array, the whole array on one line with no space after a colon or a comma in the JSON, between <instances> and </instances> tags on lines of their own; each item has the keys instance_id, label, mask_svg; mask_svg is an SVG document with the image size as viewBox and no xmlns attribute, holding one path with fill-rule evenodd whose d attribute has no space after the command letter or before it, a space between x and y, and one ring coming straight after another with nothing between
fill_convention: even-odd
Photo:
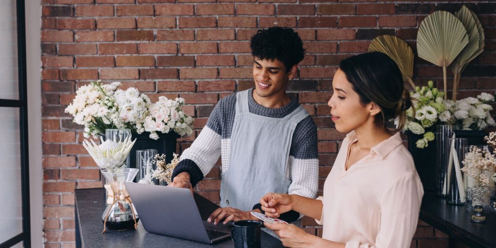
<instances>
[{"instance_id":1,"label":"pale pink collared blouse worn by the woman","mask_svg":"<svg viewBox=\"0 0 496 248\"><path fill-rule=\"evenodd\" d=\"M409 248L424 195L412 156L396 133L345 170L347 148L356 140L354 131L346 135L317 198L322 238L346 248Z\"/></svg>"}]
</instances>

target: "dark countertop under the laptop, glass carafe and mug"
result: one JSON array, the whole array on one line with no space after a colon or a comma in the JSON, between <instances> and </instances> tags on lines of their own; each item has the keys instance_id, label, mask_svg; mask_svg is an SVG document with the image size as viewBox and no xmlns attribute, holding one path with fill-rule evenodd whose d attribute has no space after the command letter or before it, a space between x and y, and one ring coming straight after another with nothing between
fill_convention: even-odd
<instances>
[{"instance_id":1,"label":"dark countertop under the laptop, glass carafe and mug","mask_svg":"<svg viewBox=\"0 0 496 248\"><path fill-rule=\"evenodd\" d=\"M195 194L195 201L200 209L202 219L208 218L212 212L211 205L205 205L205 198ZM208 200L207 200L208 201ZM232 248L234 243L227 239L213 245L187 241L168 236L148 233L144 230L141 222L138 222L136 230L113 231L108 230L102 234L102 214L105 210L105 192L102 188L76 189L75 190L75 217L76 217L76 247L119 247L119 248L201 248L218 247ZM283 247L276 238L262 233L263 248Z\"/></svg>"}]
</instances>

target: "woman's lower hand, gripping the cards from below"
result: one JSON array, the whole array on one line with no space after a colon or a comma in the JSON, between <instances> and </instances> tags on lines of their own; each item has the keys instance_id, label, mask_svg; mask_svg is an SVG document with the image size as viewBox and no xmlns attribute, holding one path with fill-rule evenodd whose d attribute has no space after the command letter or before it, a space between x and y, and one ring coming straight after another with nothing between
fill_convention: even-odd
<instances>
[{"instance_id":1,"label":"woman's lower hand, gripping the cards from below","mask_svg":"<svg viewBox=\"0 0 496 248\"><path fill-rule=\"evenodd\" d=\"M316 238L301 228L293 224L284 224L284 223L267 223L264 222L263 225L274 231L281 238L282 245L285 247L313 247L312 239Z\"/></svg>"}]
</instances>

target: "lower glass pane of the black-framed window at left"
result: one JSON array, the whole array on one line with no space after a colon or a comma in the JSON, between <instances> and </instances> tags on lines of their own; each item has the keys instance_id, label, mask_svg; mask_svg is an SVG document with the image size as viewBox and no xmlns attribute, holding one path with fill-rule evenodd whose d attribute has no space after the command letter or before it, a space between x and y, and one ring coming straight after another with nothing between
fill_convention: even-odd
<instances>
[{"instance_id":1,"label":"lower glass pane of the black-framed window at left","mask_svg":"<svg viewBox=\"0 0 496 248\"><path fill-rule=\"evenodd\" d=\"M19 108L0 108L0 244L22 233Z\"/></svg>"}]
</instances>

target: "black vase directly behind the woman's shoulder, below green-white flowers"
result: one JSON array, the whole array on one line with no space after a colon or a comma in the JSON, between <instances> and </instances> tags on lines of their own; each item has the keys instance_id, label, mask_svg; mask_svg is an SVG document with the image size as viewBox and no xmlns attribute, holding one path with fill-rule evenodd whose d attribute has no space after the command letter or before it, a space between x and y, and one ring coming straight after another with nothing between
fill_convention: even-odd
<instances>
[{"instance_id":1,"label":"black vase directly behind the woman's shoulder, below green-white flowers","mask_svg":"<svg viewBox=\"0 0 496 248\"><path fill-rule=\"evenodd\" d=\"M408 135L408 151L412 154L424 191L434 191L436 142L429 141L428 146L421 149L415 143L417 140L424 138L424 134L415 134L411 131L407 131L405 134Z\"/></svg>"}]
</instances>

